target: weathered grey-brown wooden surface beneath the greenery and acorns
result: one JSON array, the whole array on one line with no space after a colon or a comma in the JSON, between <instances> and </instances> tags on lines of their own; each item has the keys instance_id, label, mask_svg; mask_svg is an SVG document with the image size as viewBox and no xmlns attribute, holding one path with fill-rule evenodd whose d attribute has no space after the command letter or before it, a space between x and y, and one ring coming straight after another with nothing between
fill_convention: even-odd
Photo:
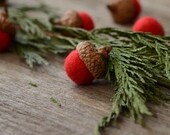
<instances>
[{"instance_id":1,"label":"weathered grey-brown wooden surface beneath the greenery and acorns","mask_svg":"<svg viewBox=\"0 0 170 135\"><path fill-rule=\"evenodd\" d=\"M15 0L13 0L15 1ZM97 27L114 26L105 8L105 0L43 0L61 12L67 9L87 10ZM18 3L35 3L20 0ZM152 15L170 34L170 1L141 0L142 15ZM13 54L0 55L0 135L92 135L98 120L111 109L113 89L106 82L76 86L65 75L64 58L50 58L50 65L30 70ZM30 82L38 87L32 87ZM62 107L50 101L58 99ZM147 117L146 127L123 118L116 128L108 127L106 135L168 135L170 104L151 106L157 117Z\"/></svg>"}]
</instances>

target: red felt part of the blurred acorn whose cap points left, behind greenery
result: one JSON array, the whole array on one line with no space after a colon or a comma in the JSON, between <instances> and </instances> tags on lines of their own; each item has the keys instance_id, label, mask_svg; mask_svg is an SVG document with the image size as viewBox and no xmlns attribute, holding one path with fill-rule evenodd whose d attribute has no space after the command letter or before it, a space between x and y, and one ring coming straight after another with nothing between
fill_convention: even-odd
<instances>
[{"instance_id":1,"label":"red felt part of the blurred acorn whose cap points left, behind greenery","mask_svg":"<svg viewBox=\"0 0 170 135\"><path fill-rule=\"evenodd\" d=\"M94 29L94 22L93 22L93 19L91 18L91 16L86 13L86 12L79 12L78 13L81 20L82 20L82 23L83 23L83 28L85 30L92 30Z\"/></svg>"}]
</instances>

